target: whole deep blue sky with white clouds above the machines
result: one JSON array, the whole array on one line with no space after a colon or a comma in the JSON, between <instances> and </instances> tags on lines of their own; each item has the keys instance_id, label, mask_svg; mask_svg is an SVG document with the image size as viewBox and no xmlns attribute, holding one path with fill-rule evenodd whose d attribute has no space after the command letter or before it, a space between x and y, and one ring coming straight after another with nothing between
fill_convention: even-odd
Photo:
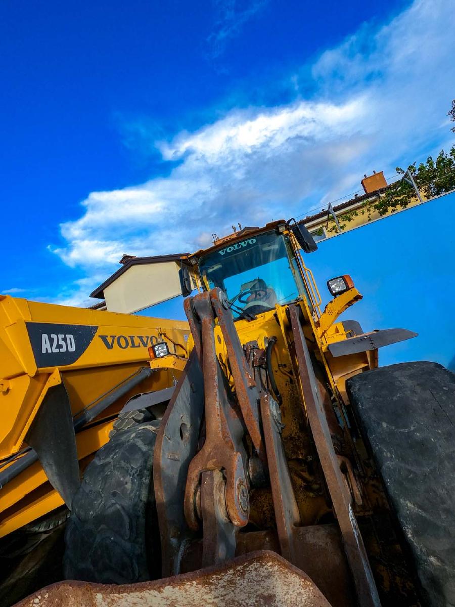
<instances>
[{"instance_id":1,"label":"whole deep blue sky with white clouds above the machines","mask_svg":"<svg viewBox=\"0 0 455 607\"><path fill-rule=\"evenodd\" d=\"M5 0L0 290L81 305L123 253L448 148L454 31L447 0Z\"/></svg>"}]
</instances>

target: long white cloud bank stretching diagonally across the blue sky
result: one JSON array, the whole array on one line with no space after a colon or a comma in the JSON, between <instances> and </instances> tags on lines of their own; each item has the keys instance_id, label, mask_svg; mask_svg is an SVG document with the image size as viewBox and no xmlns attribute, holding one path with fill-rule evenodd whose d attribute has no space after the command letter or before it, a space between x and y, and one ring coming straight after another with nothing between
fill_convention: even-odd
<instances>
[{"instance_id":1,"label":"long white cloud bank stretching diagonally across the blue sky","mask_svg":"<svg viewBox=\"0 0 455 607\"><path fill-rule=\"evenodd\" d=\"M312 66L311 99L233 109L157 142L164 160L178 161L169 176L93 192L80 219L61 225L66 244L51 250L87 276L107 276L123 253L194 250L232 223L304 214L359 189L365 172L391 175L396 164L437 151L450 140L452 9L417 0L379 29L363 25ZM296 89L303 73L292 77ZM96 281L83 286L88 293Z\"/></svg>"}]
</instances>

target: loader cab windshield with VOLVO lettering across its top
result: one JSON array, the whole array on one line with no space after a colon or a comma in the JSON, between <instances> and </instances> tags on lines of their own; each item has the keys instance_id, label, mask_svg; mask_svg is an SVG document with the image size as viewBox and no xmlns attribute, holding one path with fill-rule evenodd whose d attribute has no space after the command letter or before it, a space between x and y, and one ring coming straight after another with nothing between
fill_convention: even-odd
<instances>
[{"instance_id":1,"label":"loader cab windshield with VOLVO lettering across its top","mask_svg":"<svg viewBox=\"0 0 455 607\"><path fill-rule=\"evenodd\" d=\"M305 293L288 237L275 231L228 241L198 265L209 289L226 293L235 319L254 317Z\"/></svg>"}]
</instances>

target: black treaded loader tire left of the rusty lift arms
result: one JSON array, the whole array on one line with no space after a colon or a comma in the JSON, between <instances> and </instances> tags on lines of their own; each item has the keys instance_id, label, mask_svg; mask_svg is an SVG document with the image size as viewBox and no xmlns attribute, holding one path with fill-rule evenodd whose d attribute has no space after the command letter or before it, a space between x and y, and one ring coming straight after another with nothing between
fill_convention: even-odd
<instances>
[{"instance_id":1,"label":"black treaded loader tire left of the rusty lift arms","mask_svg":"<svg viewBox=\"0 0 455 607\"><path fill-rule=\"evenodd\" d=\"M66 579L126 584L153 577L160 560L152 475L158 426L116 433L87 466L66 526Z\"/></svg>"}]
</instances>

